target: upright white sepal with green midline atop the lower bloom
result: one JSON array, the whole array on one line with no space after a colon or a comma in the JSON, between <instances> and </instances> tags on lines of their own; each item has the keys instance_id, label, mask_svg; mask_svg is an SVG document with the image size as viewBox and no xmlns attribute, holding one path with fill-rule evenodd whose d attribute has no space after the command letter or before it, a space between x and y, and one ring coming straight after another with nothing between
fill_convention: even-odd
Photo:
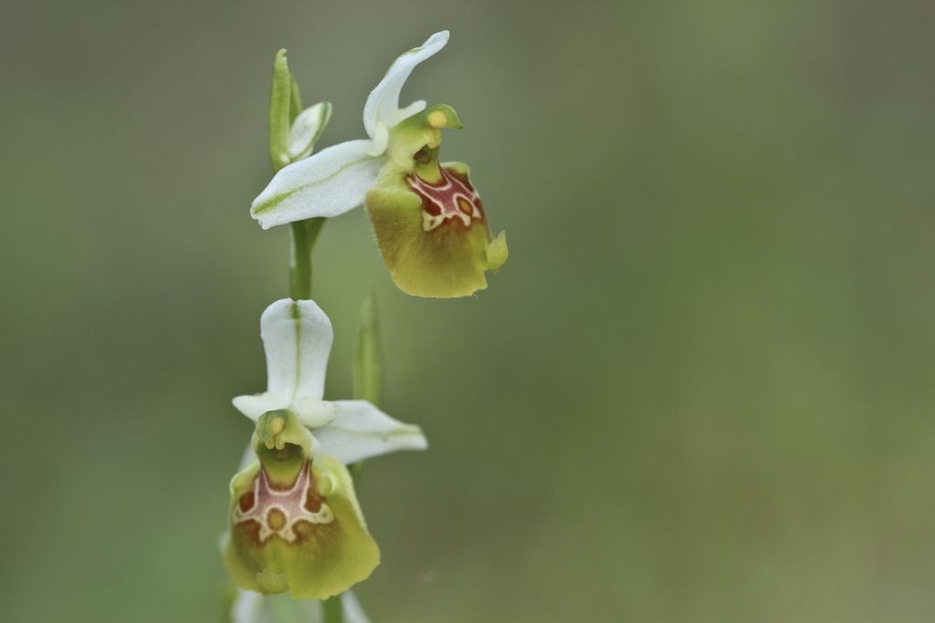
<instances>
[{"instance_id":1,"label":"upright white sepal with green midline atop the lower bloom","mask_svg":"<svg viewBox=\"0 0 935 623\"><path fill-rule=\"evenodd\" d=\"M300 400L320 401L334 332L331 320L314 301L281 299L260 318L266 349L268 392Z\"/></svg>"}]
</instances>

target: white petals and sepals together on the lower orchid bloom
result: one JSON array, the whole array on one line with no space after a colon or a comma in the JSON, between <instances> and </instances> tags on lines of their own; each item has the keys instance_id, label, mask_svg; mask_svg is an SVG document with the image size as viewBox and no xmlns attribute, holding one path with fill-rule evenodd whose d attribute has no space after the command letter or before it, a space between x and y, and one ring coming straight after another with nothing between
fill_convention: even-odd
<instances>
[{"instance_id":1,"label":"white petals and sepals together on the lower orchid bloom","mask_svg":"<svg viewBox=\"0 0 935 623\"><path fill-rule=\"evenodd\" d=\"M312 430L319 450L345 465L397 450L427 447L418 426L404 424L366 400L325 401L324 375L334 332L314 301L281 299L260 319L267 389L237 396L234 406L256 421L289 409Z\"/></svg>"}]
</instances>

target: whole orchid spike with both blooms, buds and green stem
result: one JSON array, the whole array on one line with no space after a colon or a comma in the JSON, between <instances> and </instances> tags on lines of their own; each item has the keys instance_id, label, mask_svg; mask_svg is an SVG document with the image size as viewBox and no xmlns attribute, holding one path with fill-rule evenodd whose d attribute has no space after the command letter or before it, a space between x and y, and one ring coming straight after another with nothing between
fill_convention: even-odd
<instances>
[{"instance_id":1,"label":"whole orchid spike with both blooms, buds and green stem","mask_svg":"<svg viewBox=\"0 0 935 623\"><path fill-rule=\"evenodd\" d=\"M348 589L373 572L380 549L367 531L349 466L427 447L418 426L379 408L372 298L361 315L353 400L324 400L333 331L311 300L310 262L324 220L366 205L396 286L416 296L468 296L486 288L485 272L507 260L505 234L491 237L467 165L439 163L440 131L462 127L453 108L424 101L399 106L412 70L448 37L436 33L390 66L364 106L366 139L317 152L331 105L303 109L285 50L276 56L269 107L275 176L251 214L264 229L291 228L291 296L270 304L260 320L266 391L234 399L255 428L230 485L224 562L237 585L233 623L366 622Z\"/></svg>"}]
</instances>

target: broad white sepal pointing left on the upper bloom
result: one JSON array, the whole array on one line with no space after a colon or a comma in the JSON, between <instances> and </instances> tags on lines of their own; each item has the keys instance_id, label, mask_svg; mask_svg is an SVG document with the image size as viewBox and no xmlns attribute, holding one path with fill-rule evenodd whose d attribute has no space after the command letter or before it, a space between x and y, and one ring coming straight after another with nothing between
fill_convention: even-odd
<instances>
[{"instance_id":1,"label":"broad white sepal pointing left on the upper bloom","mask_svg":"<svg viewBox=\"0 0 935 623\"><path fill-rule=\"evenodd\" d=\"M277 173L253 200L263 229L312 217L337 217L364 203L385 163L367 155L371 141L338 143Z\"/></svg>"}]
</instances>

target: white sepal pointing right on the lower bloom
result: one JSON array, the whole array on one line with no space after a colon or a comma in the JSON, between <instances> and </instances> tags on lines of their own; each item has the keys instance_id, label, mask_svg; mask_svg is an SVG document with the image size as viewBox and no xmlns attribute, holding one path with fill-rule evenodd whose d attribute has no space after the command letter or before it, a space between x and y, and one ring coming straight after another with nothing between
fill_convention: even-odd
<instances>
[{"instance_id":1,"label":"white sepal pointing right on the lower bloom","mask_svg":"<svg viewBox=\"0 0 935 623\"><path fill-rule=\"evenodd\" d=\"M422 429L390 418L366 400L339 400L334 421L315 431L322 452L344 464L428 447Z\"/></svg>"}]
</instances>

